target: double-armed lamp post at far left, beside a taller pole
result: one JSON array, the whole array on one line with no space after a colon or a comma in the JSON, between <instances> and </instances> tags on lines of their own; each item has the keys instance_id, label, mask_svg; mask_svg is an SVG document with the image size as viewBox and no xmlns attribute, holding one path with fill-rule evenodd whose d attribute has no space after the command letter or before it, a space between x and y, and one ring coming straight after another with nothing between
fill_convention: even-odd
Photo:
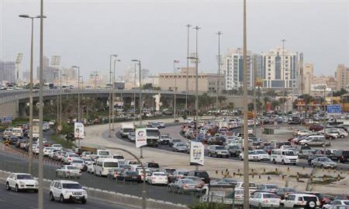
<instances>
[{"instance_id":1,"label":"double-armed lamp post at far left, beside a taller pole","mask_svg":"<svg viewBox=\"0 0 349 209\"><path fill-rule=\"evenodd\" d=\"M33 172L33 56L34 56L34 19L41 16L30 17L29 15L19 15L22 18L31 20L31 40L30 40L30 72L29 72L29 165L28 172ZM45 16L43 17L45 18Z\"/></svg>"}]
</instances>

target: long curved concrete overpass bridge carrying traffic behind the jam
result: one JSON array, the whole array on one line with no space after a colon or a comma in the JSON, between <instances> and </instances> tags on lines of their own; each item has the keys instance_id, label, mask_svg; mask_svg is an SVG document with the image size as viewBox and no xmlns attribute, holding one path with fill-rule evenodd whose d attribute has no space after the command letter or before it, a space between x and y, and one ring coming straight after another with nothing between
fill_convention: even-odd
<instances>
[{"instance_id":1,"label":"long curved concrete overpass bridge carrying traffic behind the jam","mask_svg":"<svg viewBox=\"0 0 349 209\"><path fill-rule=\"evenodd\" d=\"M57 95L75 95L80 94L81 97L87 98L98 98L103 100L105 104L109 98L110 93L115 93L118 97L121 97L124 101L124 104L131 104L133 96L136 97L136 103L138 102L138 97L140 91L138 89L132 90L119 90L119 89L108 89L108 88L93 88L93 89L77 89L77 88L51 88L43 89L43 100L44 104L47 101L57 100ZM204 92L199 92L202 95ZM186 92L177 92L177 104L180 102L185 102ZM168 100L169 104L173 104L174 91L148 91L142 90L142 98L152 98L154 95L161 95L161 98ZM195 95L195 92L188 92L188 95ZM216 96L215 93L209 93L210 96ZM242 97L241 96L230 96L225 95L227 98L226 102L234 102L235 107L243 107ZM35 103L38 103L39 100L39 91L34 89L33 100ZM252 101L252 98L248 98L249 102ZM0 91L0 116L13 116L25 117L25 106L29 102L29 89L20 89L12 91ZM136 104L137 105L137 104Z\"/></svg>"}]
</instances>

